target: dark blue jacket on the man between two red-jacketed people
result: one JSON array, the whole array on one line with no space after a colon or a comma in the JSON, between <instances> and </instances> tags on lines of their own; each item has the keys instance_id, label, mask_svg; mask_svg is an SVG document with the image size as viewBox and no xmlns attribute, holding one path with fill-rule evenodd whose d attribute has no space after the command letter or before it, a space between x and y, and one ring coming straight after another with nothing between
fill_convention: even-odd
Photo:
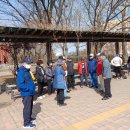
<instances>
[{"instance_id":1,"label":"dark blue jacket on the man between two red-jacketed people","mask_svg":"<svg viewBox=\"0 0 130 130\"><path fill-rule=\"evenodd\" d=\"M90 74L97 73L97 65L98 65L98 62L96 58L90 59L88 61L88 71Z\"/></svg>"}]
</instances>

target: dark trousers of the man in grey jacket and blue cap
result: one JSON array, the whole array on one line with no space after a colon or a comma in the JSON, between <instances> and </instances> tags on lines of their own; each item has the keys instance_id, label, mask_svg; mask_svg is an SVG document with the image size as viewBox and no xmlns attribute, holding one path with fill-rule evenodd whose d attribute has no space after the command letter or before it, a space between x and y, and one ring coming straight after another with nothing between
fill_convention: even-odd
<instances>
[{"instance_id":1,"label":"dark trousers of the man in grey jacket and blue cap","mask_svg":"<svg viewBox=\"0 0 130 130\"><path fill-rule=\"evenodd\" d=\"M111 78L104 79L105 95L104 97L110 97L111 95Z\"/></svg>"}]
</instances>

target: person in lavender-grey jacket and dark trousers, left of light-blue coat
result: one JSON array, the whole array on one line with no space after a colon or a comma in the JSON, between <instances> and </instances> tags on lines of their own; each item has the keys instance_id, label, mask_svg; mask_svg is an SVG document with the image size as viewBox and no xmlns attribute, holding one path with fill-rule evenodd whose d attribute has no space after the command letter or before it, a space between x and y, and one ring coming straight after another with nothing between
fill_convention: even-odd
<instances>
[{"instance_id":1,"label":"person in lavender-grey jacket and dark trousers, left of light-blue coat","mask_svg":"<svg viewBox=\"0 0 130 130\"><path fill-rule=\"evenodd\" d=\"M47 92L48 92L48 95L51 95L54 92L53 85L52 85L53 77L54 77L54 69L53 69L52 61L47 62L45 74L46 74L47 86L48 86Z\"/></svg>"}]
</instances>

